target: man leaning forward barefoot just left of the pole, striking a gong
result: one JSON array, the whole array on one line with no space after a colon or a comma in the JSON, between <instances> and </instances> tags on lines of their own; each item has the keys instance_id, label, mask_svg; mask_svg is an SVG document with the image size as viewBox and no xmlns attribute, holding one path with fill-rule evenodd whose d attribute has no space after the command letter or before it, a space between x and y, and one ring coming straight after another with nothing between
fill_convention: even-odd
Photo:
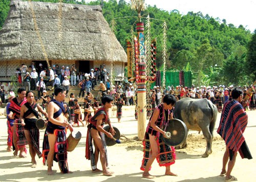
<instances>
[{"instance_id":1,"label":"man leaning forward barefoot just left of the pole, striking a gong","mask_svg":"<svg viewBox=\"0 0 256 182\"><path fill-rule=\"evenodd\" d=\"M111 125L108 110L113 106L114 98L110 95L101 97L102 108L89 119L90 124L87 126L87 140L86 140L86 159L91 160L92 172L102 172L103 175L112 176L114 172L108 170L108 155L106 153L105 136L113 138L115 131ZM107 122L110 126L110 132L103 128L104 123ZM95 151L93 151L92 140ZM102 171L97 168L97 162L100 159Z\"/></svg>"}]
</instances>

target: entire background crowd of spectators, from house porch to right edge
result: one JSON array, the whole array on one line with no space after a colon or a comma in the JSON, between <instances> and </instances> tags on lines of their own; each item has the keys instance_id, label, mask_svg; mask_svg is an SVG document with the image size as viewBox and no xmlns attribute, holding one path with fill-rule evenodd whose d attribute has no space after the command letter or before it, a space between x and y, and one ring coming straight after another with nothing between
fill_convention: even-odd
<instances>
[{"instance_id":1,"label":"entire background crowd of spectators, from house porch to right edge","mask_svg":"<svg viewBox=\"0 0 256 182\"><path fill-rule=\"evenodd\" d=\"M39 74L38 74L39 73ZM132 83L122 83L116 82L113 88L110 84L110 74L106 70L105 65L100 65L100 67L91 68L90 73L77 71L77 68L73 64L71 68L69 66L59 67L57 64L52 65L52 67L44 68L42 64L39 67L35 67L35 63L27 67L22 64L22 67L16 69L16 74L18 78L18 83L20 86L25 87L27 90L37 90L38 98L43 95L43 92L50 86L50 89L62 85L67 89L67 94L70 87L79 87L80 92L78 97L84 97L84 93L90 93L94 90L95 86L99 86L99 90L102 94L115 94L118 95L123 101L124 105L131 106L134 105L134 99L136 98L135 84ZM244 93L247 89L253 87L244 86L241 87ZM254 86L255 87L255 86ZM196 87L192 85L191 87L183 87L182 85L174 87L167 86L161 89L159 86L154 86L150 93L147 93L151 98L152 108L160 104L161 98L165 94L173 94L177 100L190 97L190 98L207 98L217 105L218 111L221 112L222 104L231 99L231 90L233 86L201 86ZM0 94L2 102L7 102L8 94L12 91L10 84L1 84ZM6 99L7 98L7 99ZM98 97L97 97L98 98ZM99 98L98 98L99 99ZM250 99L250 108L255 108L255 91Z\"/></svg>"}]
</instances>

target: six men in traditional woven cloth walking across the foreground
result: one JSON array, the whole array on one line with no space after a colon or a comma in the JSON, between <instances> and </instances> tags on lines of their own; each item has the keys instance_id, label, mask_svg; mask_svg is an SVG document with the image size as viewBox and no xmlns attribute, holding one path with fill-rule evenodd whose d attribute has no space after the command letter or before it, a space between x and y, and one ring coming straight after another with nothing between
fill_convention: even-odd
<instances>
[{"instance_id":1,"label":"six men in traditional woven cloth walking across the foreground","mask_svg":"<svg viewBox=\"0 0 256 182\"><path fill-rule=\"evenodd\" d=\"M43 157L44 164L46 164L47 160L47 173L49 175L53 174L53 161L58 162L62 173L72 173L68 168L67 162L66 132L67 128L72 132L73 127L72 124L68 122L69 119L66 117L67 106L63 103L67 94L65 87L59 86L54 90L55 98L49 102L47 112L36 104L32 91L19 88L17 93L18 97L11 96L9 98L10 105L8 106L7 122L12 134L10 134L10 136L8 135L8 149L11 149L9 144L11 146L13 143L13 154L17 155L18 151L20 151L18 156L22 158L26 153L26 144L29 144L29 152L33 163L31 167L36 167L35 155L37 154L39 158ZM248 119L243 108L244 106L241 105L243 91L241 88L233 88L230 96L232 99L224 103L221 121L217 131L226 143L223 167L220 174L221 176L226 175L225 181L237 180L236 177L231 176L231 171L236 161L238 151L242 158L251 159L243 137ZM120 94L118 94L117 103L120 103L120 101ZM165 126L169 124L170 119L173 118L172 113L176 101L177 99L174 94L165 94L162 102L159 102L159 105L155 107L154 112L150 116L143 141L144 153L140 168L144 171L142 176L145 178L152 179L155 177L149 173L155 159L157 159L160 166L165 166L165 175L177 176L177 174L170 170L170 165L174 164L176 160L175 149L165 144L160 138L160 134L167 137L163 128L165 128ZM111 95L105 94L101 97L101 102L102 107L97 108L94 116L87 118L86 158L91 160L92 172L102 172L103 175L111 176L114 172L108 169L108 155L106 154L104 137L113 138L115 135L115 130L108 114L108 110L113 106L114 98ZM85 105L87 104L88 100L85 99ZM36 119L41 114L48 117L42 152L39 150L39 131L35 125ZM109 124L109 132L105 131L103 128L104 123ZM236 136L239 137L237 138ZM98 159L100 159L102 170L99 170L97 167ZM227 164L228 168L226 170Z\"/></svg>"}]
</instances>

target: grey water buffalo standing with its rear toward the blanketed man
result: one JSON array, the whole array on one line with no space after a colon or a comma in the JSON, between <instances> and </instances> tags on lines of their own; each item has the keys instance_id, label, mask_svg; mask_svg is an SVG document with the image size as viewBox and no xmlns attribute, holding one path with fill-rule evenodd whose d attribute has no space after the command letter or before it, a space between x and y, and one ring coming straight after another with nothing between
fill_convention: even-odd
<instances>
[{"instance_id":1,"label":"grey water buffalo standing with its rear toward the blanketed man","mask_svg":"<svg viewBox=\"0 0 256 182\"><path fill-rule=\"evenodd\" d=\"M203 132L207 146L206 151L202 157L208 157L208 155L212 152L211 142L217 119L216 106L206 98L182 98L176 102L174 117L182 120L186 124L187 130L191 129ZM187 141L185 139L182 147L186 146Z\"/></svg>"}]
</instances>

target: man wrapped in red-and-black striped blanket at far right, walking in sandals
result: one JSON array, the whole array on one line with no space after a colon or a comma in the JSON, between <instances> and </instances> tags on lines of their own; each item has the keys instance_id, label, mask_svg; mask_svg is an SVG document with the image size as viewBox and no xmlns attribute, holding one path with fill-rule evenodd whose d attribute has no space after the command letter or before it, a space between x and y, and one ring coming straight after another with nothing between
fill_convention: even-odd
<instances>
[{"instance_id":1,"label":"man wrapped in red-and-black striped blanket at far right, walking in sandals","mask_svg":"<svg viewBox=\"0 0 256 182\"><path fill-rule=\"evenodd\" d=\"M226 150L223 155L222 171L220 176L225 176L225 181L236 181L237 178L231 176L232 169L236 163L237 152L242 159L252 159L249 148L245 142L243 133L245 131L248 115L242 106L243 91L236 87L232 90L232 100L228 100L223 105L220 125L217 133L224 139ZM243 102L246 106L246 102ZM229 161L228 161L229 158ZM228 164L227 170L226 166Z\"/></svg>"}]
</instances>

